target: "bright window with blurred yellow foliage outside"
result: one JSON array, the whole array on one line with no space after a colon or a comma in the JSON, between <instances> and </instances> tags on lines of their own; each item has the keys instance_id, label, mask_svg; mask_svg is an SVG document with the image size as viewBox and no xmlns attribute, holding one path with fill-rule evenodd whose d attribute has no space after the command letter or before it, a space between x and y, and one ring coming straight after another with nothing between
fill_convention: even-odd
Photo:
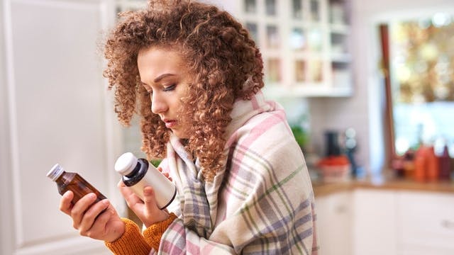
<instances>
[{"instance_id":1,"label":"bright window with blurred yellow foliage outside","mask_svg":"<svg viewBox=\"0 0 454 255\"><path fill-rule=\"evenodd\" d=\"M421 143L454 156L454 16L394 21L382 30L389 53L388 107L394 155ZM384 57L386 60L386 57ZM385 68L386 69L386 68Z\"/></svg>"}]
</instances>

